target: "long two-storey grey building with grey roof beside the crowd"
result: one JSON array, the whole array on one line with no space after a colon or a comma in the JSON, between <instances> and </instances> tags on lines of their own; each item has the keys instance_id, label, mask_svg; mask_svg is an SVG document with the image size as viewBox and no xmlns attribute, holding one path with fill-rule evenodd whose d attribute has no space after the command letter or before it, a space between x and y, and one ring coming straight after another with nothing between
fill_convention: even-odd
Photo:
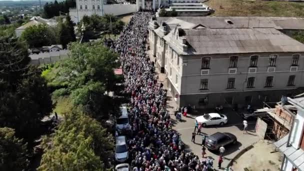
<instances>
[{"instance_id":1,"label":"long two-storey grey building with grey roof beside the crowd","mask_svg":"<svg viewBox=\"0 0 304 171\"><path fill-rule=\"evenodd\" d=\"M303 24L303 18L153 17L149 46L178 105L259 105L304 86L304 44L280 31Z\"/></svg>"}]
</instances>

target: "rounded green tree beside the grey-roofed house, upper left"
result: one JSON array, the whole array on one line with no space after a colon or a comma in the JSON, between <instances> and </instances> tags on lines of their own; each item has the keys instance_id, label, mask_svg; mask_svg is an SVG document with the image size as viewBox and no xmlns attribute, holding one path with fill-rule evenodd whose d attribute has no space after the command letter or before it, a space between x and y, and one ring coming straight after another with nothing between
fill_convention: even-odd
<instances>
[{"instance_id":1,"label":"rounded green tree beside the grey-roofed house, upper left","mask_svg":"<svg viewBox=\"0 0 304 171\"><path fill-rule=\"evenodd\" d=\"M32 25L25 28L20 39L24 40L30 48L56 43L54 31L45 24Z\"/></svg>"}]
</instances>

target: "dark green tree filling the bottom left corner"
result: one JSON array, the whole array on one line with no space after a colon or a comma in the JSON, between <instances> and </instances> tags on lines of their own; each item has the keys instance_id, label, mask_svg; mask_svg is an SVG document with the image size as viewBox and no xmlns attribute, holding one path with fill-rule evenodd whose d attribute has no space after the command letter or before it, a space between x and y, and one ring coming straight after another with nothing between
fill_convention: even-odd
<instances>
[{"instance_id":1,"label":"dark green tree filling the bottom left corner","mask_svg":"<svg viewBox=\"0 0 304 171\"><path fill-rule=\"evenodd\" d=\"M26 159L26 144L14 135L9 127L0 127L0 170L23 170Z\"/></svg>"}]
</instances>

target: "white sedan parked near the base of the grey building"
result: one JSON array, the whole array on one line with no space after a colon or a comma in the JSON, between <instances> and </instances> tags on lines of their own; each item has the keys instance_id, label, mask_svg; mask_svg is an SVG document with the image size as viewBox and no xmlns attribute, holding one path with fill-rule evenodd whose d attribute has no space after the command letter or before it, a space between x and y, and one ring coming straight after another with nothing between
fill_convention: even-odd
<instances>
[{"instance_id":1,"label":"white sedan parked near the base of the grey building","mask_svg":"<svg viewBox=\"0 0 304 171\"><path fill-rule=\"evenodd\" d=\"M195 117L195 122L202 124L203 127L206 125L214 125L214 124L223 125L227 123L227 121L228 121L227 116L219 113L207 113Z\"/></svg>"}]
</instances>

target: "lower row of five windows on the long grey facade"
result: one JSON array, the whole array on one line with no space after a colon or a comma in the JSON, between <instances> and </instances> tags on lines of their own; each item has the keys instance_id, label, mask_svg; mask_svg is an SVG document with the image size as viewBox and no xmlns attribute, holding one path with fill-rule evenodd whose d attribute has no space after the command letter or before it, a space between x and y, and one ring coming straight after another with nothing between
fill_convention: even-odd
<instances>
[{"instance_id":1,"label":"lower row of five windows on the long grey facade","mask_svg":"<svg viewBox=\"0 0 304 171\"><path fill-rule=\"evenodd\" d=\"M288 77L287 85L294 85L295 75L290 75ZM247 78L247 88L254 87L255 77ZM265 81L265 87L271 87L273 81L273 76L267 76ZM235 78L228 78L227 88L235 88L234 87ZM200 79L200 89L208 89L208 79Z\"/></svg>"}]
</instances>

